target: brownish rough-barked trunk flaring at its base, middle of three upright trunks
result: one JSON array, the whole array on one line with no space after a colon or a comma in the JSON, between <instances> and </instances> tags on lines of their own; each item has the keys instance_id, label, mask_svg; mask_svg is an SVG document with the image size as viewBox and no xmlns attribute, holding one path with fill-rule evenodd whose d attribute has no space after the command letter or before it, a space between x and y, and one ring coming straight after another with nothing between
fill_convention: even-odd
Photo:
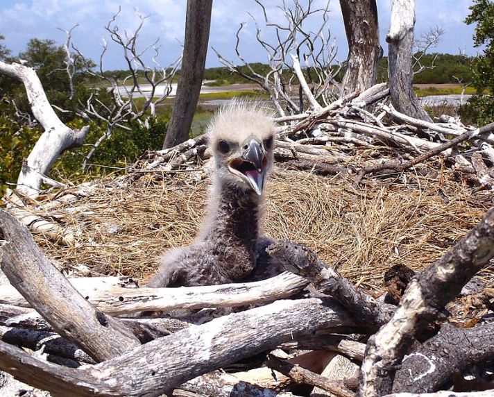
<instances>
[{"instance_id":1,"label":"brownish rough-barked trunk flaring at its base, middle of three upright trunks","mask_svg":"<svg viewBox=\"0 0 494 397\"><path fill-rule=\"evenodd\" d=\"M364 91L376 83L382 49L375 0L340 0L340 5L348 41L341 97L350 92Z\"/></svg>"}]
</instances>

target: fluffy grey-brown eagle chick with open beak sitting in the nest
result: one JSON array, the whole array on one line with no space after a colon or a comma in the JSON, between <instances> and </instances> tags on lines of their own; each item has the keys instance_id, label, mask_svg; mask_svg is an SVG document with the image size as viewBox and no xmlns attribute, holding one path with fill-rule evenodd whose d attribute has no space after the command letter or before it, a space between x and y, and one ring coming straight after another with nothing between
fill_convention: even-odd
<instances>
[{"instance_id":1,"label":"fluffy grey-brown eagle chick with open beak sitting in the nest","mask_svg":"<svg viewBox=\"0 0 494 397\"><path fill-rule=\"evenodd\" d=\"M241 280L257 262L259 217L273 164L275 125L258 104L232 101L207 130L213 183L196 240L165 253L148 287L214 285Z\"/></svg>"}]
</instances>

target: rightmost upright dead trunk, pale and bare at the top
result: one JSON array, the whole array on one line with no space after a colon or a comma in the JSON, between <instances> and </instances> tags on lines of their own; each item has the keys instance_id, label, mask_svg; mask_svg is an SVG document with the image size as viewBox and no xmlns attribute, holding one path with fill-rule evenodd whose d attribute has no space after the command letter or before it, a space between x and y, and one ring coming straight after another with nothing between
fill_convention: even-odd
<instances>
[{"instance_id":1,"label":"rightmost upright dead trunk, pale and bare at the top","mask_svg":"<svg viewBox=\"0 0 494 397\"><path fill-rule=\"evenodd\" d=\"M388 76L391 103L405 115L432 121L414 94L411 51L414 45L415 0L393 0L388 43Z\"/></svg>"}]
</instances>

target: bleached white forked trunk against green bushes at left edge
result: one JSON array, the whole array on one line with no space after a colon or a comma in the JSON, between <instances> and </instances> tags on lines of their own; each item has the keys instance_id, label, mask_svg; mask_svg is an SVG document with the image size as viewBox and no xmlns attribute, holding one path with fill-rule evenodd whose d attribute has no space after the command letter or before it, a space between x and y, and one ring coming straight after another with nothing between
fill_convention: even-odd
<instances>
[{"instance_id":1,"label":"bleached white forked trunk against green bushes at left edge","mask_svg":"<svg viewBox=\"0 0 494 397\"><path fill-rule=\"evenodd\" d=\"M17 178L17 189L26 196L36 196L40 192L43 176L49 173L58 156L74 146L83 144L89 132L89 126L80 130L67 127L56 115L46 98L40 78L35 69L18 63L8 64L0 61L0 74L21 81L26 88L34 117L44 128L27 161Z\"/></svg>"}]
</instances>

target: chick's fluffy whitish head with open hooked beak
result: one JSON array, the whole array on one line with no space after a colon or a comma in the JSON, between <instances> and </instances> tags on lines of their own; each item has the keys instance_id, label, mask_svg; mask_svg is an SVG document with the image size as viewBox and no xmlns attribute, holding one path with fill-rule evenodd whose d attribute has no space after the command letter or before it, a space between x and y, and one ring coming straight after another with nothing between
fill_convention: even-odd
<instances>
[{"instance_id":1,"label":"chick's fluffy whitish head with open hooked beak","mask_svg":"<svg viewBox=\"0 0 494 397\"><path fill-rule=\"evenodd\" d=\"M275 131L271 112L259 103L230 101L223 106L207 129L216 176L261 195L273 164Z\"/></svg>"}]
</instances>

